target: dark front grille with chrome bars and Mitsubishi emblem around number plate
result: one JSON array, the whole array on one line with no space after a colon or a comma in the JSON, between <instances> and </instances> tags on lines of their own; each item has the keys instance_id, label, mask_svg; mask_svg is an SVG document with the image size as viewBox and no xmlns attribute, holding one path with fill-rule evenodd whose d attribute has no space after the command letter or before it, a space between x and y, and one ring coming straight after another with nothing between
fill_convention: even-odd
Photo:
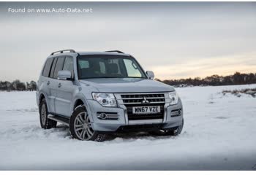
<instances>
[{"instance_id":1,"label":"dark front grille with chrome bars and Mitsubishi emblem around number plate","mask_svg":"<svg viewBox=\"0 0 256 175\"><path fill-rule=\"evenodd\" d=\"M128 120L155 120L163 119L164 117L164 93L121 94L121 99L123 104L127 107ZM143 101L146 101L146 103L143 103ZM160 106L160 112L152 114L133 114L133 106Z\"/></svg>"}]
</instances>

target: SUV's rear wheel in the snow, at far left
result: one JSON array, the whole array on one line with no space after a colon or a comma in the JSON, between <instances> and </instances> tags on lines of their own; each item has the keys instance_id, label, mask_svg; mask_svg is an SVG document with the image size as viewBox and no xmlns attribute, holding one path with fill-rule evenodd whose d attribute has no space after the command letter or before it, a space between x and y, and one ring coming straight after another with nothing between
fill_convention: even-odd
<instances>
[{"instance_id":1,"label":"SUV's rear wheel in the snow, at far left","mask_svg":"<svg viewBox=\"0 0 256 175\"><path fill-rule=\"evenodd\" d=\"M54 120L50 120L48 118L48 108L47 108L45 98L43 98L41 103L39 104L39 116L40 116L41 128L44 128L44 129L56 128L57 122Z\"/></svg>"}]
</instances>

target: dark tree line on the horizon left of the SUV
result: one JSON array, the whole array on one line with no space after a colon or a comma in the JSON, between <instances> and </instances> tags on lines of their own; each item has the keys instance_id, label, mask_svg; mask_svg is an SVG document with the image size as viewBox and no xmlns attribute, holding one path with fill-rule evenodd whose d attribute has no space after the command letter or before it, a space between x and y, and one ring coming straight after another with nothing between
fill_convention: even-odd
<instances>
[{"instance_id":1,"label":"dark tree line on the horizon left of the SUV","mask_svg":"<svg viewBox=\"0 0 256 175\"><path fill-rule=\"evenodd\" d=\"M31 82L20 82L19 79L16 79L13 82L8 81L0 81L0 90L37 90L37 82L31 81Z\"/></svg>"}]
</instances>

